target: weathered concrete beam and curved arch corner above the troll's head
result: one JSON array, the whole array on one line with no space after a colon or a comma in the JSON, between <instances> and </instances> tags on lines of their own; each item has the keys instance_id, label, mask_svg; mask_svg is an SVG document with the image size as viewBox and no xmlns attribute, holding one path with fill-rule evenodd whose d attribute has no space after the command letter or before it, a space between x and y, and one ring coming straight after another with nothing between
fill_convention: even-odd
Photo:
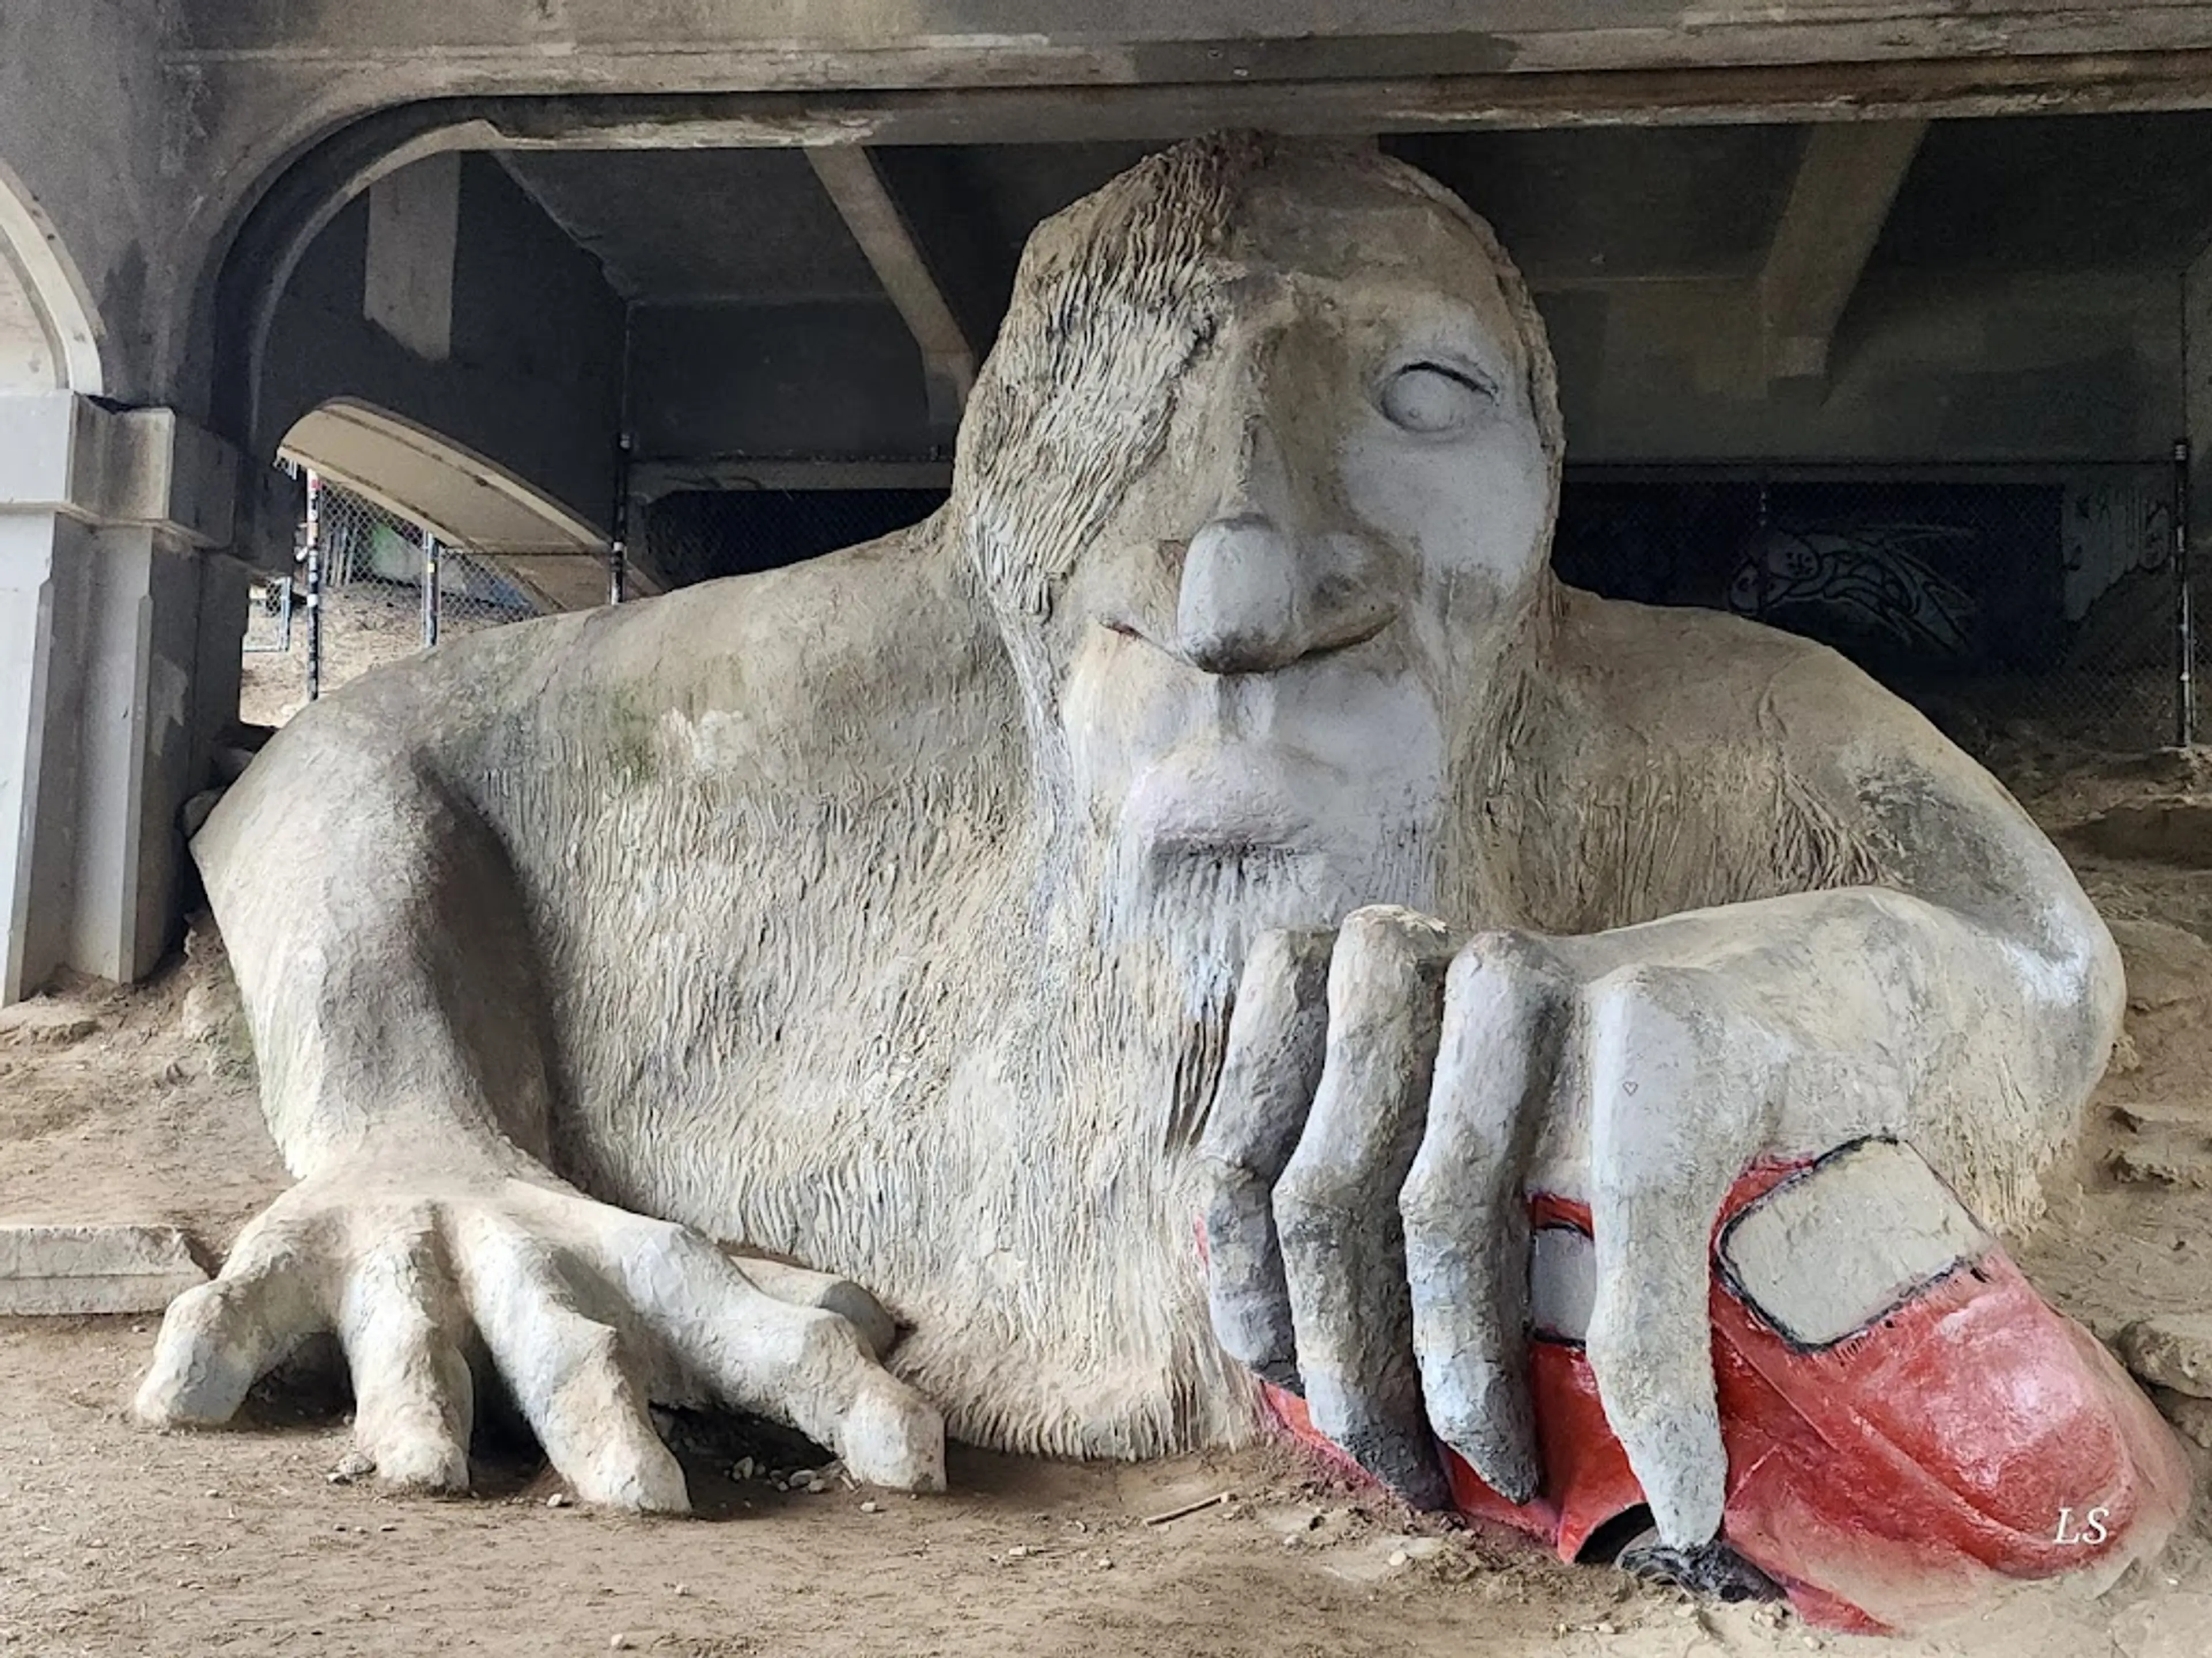
<instances>
[{"instance_id":1,"label":"weathered concrete beam and curved arch corner above the troll's head","mask_svg":"<svg viewBox=\"0 0 2212 1658\"><path fill-rule=\"evenodd\" d=\"M653 141L657 119L684 117L697 130L679 141L927 144L1181 137L1223 124L1374 133L2212 97L2190 57L2212 49L2212 20L2179 4L2020 4L1971 22L1909 9L1708 7L1688 62L1681 9L1663 0L1557 15L1433 2L1387 15L1279 11L1248 0L984 15L949 0L836 0L803 13L575 0L509 13L422 0L310 13L276 0L195 0L155 18L126 0L11 4L0 20L0 161L53 203L108 314L111 389L204 416L197 380L215 270L248 203L316 139L425 99L690 99L657 113L604 106L593 141ZM409 135L476 117L453 108ZM513 130L529 137L546 119L566 124L540 108L518 113ZM349 192L343 183L338 199Z\"/></svg>"}]
</instances>

